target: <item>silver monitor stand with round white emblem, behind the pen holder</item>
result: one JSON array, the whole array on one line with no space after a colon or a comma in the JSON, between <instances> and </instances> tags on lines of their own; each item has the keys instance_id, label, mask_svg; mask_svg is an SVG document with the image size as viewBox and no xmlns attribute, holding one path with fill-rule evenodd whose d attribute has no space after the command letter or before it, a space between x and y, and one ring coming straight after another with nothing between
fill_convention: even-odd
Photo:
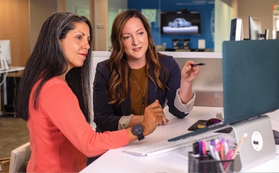
<instances>
[{"instance_id":1,"label":"silver monitor stand with round white emblem, behind the pen holder","mask_svg":"<svg viewBox=\"0 0 279 173\"><path fill-rule=\"evenodd\" d=\"M276 156L276 145L269 116L262 115L231 125L236 144L244 133L248 136L234 161L234 171L244 172Z\"/></svg>"}]
</instances>

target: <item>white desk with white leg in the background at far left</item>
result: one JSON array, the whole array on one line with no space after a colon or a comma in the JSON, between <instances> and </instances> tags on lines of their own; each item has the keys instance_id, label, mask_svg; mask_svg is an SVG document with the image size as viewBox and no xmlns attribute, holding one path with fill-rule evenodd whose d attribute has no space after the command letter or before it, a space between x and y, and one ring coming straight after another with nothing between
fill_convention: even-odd
<instances>
[{"instance_id":1,"label":"white desk with white leg in the background at far left","mask_svg":"<svg viewBox=\"0 0 279 173\"><path fill-rule=\"evenodd\" d=\"M6 80L4 79L5 76L7 75L7 73L15 73L15 72L18 72L18 71L21 71L21 70L24 70L25 67L15 67L15 66L9 66L9 69L6 69L6 70L0 70L0 82L2 82L3 80ZM4 100L5 100L5 95L4 95L4 88L5 88L6 84L2 84L0 86L0 89L1 89L1 114L0 115L4 115L6 114L5 112L5 109L4 109Z\"/></svg>"}]
</instances>

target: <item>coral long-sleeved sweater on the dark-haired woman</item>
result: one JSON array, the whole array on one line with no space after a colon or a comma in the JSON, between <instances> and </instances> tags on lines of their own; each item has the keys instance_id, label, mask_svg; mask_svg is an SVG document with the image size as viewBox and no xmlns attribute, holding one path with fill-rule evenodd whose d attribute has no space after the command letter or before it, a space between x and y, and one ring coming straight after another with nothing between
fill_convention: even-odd
<instances>
[{"instance_id":1,"label":"coral long-sleeved sweater on the dark-haired woman","mask_svg":"<svg viewBox=\"0 0 279 173\"><path fill-rule=\"evenodd\" d=\"M29 100L31 157L27 172L80 172L86 166L86 156L98 156L129 143L125 129L104 133L92 130L76 95L60 77L42 87L35 110L33 96L37 87L38 83Z\"/></svg>"}]
</instances>

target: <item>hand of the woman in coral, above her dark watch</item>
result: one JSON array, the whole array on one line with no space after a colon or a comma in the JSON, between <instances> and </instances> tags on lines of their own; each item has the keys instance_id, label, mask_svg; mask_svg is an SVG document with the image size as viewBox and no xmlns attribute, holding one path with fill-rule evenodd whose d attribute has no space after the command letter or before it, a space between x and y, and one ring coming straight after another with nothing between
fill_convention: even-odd
<instances>
[{"instance_id":1,"label":"hand of the woman in coral, above her dark watch","mask_svg":"<svg viewBox=\"0 0 279 173\"><path fill-rule=\"evenodd\" d=\"M143 121L143 136L151 134L160 122L163 120L163 108L159 101L156 100L151 105L147 106L144 110Z\"/></svg>"}]
</instances>

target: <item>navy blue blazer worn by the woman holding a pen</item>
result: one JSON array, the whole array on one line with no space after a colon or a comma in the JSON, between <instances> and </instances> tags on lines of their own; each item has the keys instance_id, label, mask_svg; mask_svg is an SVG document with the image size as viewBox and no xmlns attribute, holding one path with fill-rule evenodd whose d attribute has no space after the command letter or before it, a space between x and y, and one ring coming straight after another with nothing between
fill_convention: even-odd
<instances>
[{"instance_id":1,"label":"navy blue blazer worn by the woman holding a pen","mask_svg":"<svg viewBox=\"0 0 279 173\"><path fill-rule=\"evenodd\" d=\"M96 74L94 79L93 87L93 111L94 111L94 122L97 125L96 131L116 131L118 130L118 121L122 116L131 115L131 97L130 90L128 87L128 94L124 102L117 106L116 104L110 105L109 97L109 80L111 77L111 72L109 68L109 59L99 62L96 67ZM156 99L159 100L162 107L167 99L167 106L169 107L169 112L178 117L184 118L186 115L184 112L180 112L174 106L174 98L176 96L176 90L180 87L181 71L177 64L171 56L164 56L160 59L163 66L167 68L168 80L165 93L160 87L157 87L155 91L155 84L149 79L148 85L148 105L152 104ZM149 74L154 79L154 66L150 65ZM161 73L160 80L164 84L166 78L166 73ZM129 85L128 85L129 86ZM164 107L163 107L164 108Z\"/></svg>"}]
</instances>

